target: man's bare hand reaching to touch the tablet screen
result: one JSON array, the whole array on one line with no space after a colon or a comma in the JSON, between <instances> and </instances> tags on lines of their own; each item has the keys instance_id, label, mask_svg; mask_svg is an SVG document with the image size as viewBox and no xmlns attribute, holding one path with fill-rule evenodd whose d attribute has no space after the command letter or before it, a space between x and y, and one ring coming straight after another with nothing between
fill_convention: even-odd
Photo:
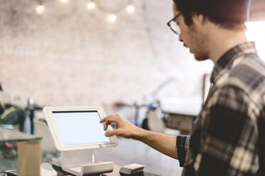
<instances>
[{"instance_id":1,"label":"man's bare hand reaching to touch the tablet screen","mask_svg":"<svg viewBox=\"0 0 265 176\"><path fill-rule=\"evenodd\" d=\"M137 136L137 134L142 131L142 129L137 128L137 126L134 126L132 123L130 123L126 119L123 119L118 114L106 116L105 118L101 119L100 123L104 123L105 131L111 123L116 123L117 129L107 131L105 133L105 136L107 137L118 135L123 138L135 138L135 136Z\"/></svg>"}]
</instances>

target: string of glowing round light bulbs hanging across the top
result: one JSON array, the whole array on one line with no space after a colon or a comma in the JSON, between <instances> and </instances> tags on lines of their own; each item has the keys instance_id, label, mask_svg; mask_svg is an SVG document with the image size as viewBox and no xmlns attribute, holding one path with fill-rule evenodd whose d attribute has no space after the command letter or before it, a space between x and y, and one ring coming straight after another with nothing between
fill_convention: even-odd
<instances>
[{"instance_id":1,"label":"string of glowing round light bulbs hanging across the top","mask_svg":"<svg viewBox=\"0 0 265 176\"><path fill-rule=\"evenodd\" d=\"M61 4L66 4L69 0L58 0L61 2ZM103 1L103 0L101 0ZM121 6L115 6L115 9L107 9L106 6L103 6L103 4L105 4L105 2L100 4L100 0L89 0L88 4L86 5L88 10L93 10L95 8L104 11L107 14L107 21L109 21L110 23L114 22L117 20L117 13L119 13L120 11L123 10L127 10L128 13L133 13L133 11L135 11L135 6L133 6L132 0L128 0L128 2L126 3L125 1L122 1L123 4ZM125 3L125 4L124 4ZM107 4L108 5L108 4ZM117 7L117 8L116 8ZM38 14L43 14L44 13L44 6L43 3L39 3L38 6L36 6L36 13Z\"/></svg>"}]
</instances>

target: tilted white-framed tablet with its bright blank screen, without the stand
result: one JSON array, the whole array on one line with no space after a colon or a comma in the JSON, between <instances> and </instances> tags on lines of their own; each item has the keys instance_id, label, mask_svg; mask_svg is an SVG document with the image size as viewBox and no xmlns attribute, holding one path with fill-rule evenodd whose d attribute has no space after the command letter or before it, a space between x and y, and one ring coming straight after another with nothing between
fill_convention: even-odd
<instances>
[{"instance_id":1,"label":"tilted white-framed tablet with its bright blank screen, without the stand","mask_svg":"<svg viewBox=\"0 0 265 176\"><path fill-rule=\"evenodd\" d=\"M100 107L46 106L43 108L56 148L61 151L114 147L116 136L105 137ZM107 131L112 130L108 126Z\"/></svg>"}]
</instances>

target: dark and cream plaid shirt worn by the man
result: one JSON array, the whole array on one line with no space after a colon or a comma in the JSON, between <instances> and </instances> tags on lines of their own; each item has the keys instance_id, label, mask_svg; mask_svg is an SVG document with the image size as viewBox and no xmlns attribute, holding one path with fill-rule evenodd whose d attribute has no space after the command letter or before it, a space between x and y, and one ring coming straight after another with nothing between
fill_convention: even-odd
<instances>
[{"instance_id":1,"label":"dark and cream plaid shirt worn by the man","mask_svg":"<svg viewBox=\"0 0 265 176\"><path fill-rule=\"evenodd\" d=\"M222 55L211 83L192 135L177 136L182 175L265 175L265 65L254 43Z\"/></svg>"}]
</instances>

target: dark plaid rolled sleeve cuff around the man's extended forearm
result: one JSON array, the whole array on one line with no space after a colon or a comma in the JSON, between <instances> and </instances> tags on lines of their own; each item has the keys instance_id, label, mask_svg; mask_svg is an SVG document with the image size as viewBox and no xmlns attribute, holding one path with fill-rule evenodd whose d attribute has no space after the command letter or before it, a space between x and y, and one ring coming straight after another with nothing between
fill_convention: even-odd
<instances>
[{"instance_id":1,"label":"dark plaid rolled sleeve cuff around the man's extended forearm","mask_svg":"<svg viewBox=\"0 0 265 176\"><path fill-rule=\"evenodd\" d=\"M180 162L180 167L184 166L188 146L189 136L177 136L177 157Z\"/></svg>"}]
</instances>

